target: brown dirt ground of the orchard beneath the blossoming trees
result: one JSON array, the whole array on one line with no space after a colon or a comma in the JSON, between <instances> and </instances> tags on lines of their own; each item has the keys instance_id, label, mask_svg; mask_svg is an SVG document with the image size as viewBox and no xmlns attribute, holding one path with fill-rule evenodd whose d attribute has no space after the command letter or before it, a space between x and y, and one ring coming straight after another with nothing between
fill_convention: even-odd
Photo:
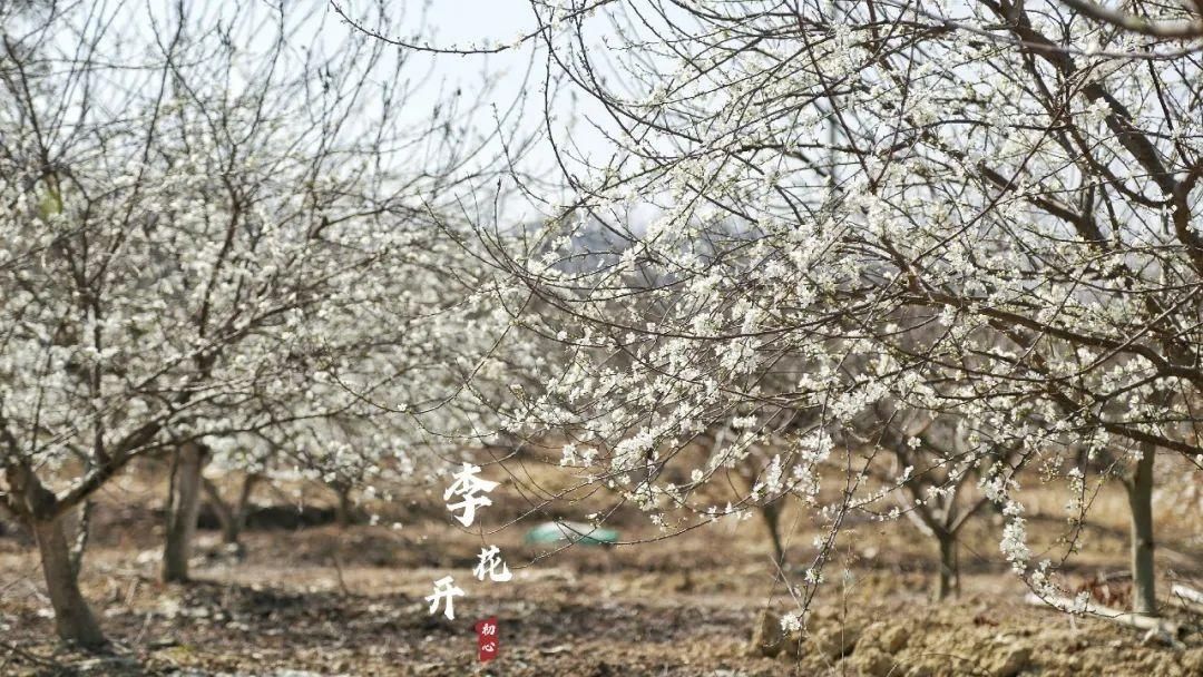
<instances>
[{"instance_id":1,"label":"brown dirt ground of the orchard beneath the blossoming trees","mask_svg":"<svg viewBox=\"0 0 1203 677\"><path fill-rule=\"evenodd\" d=\"M960 595L940 605L929 601L934 541L906 523L852 525L811 606L807 639L768 658L748 654L749 634L766 610L794 602L755 521L639 546L575 546L492 583L472 575L481 545L500 546L511 565L531 563L546 546L523 542L528 524L484 536L452 529L439 495L414 492L378 525L253 529L244 557L202 530L197 581L166 586L155 576L159 489L131 487L101 497L83 574L114 654L82 655L53 641L36 553L10 529L0 538L0 675L1203 676L1199 617L1174 612L1189 629L1171 645L1026 605L1026 588L997 556L992 516L965 535ZM504 498L490 510L497 519L482 522L494 525L521 512ZM1063 531L1057 515L1030 515L1039 539ZM1069 584L1124 570L1122 510L1102 515L1066 570ZM790 523L789 558L801 565L816 531ZM624 539L657 534L623 511L611 524ZM1201 587L1198 530L1195 518L1162 528L1163 592L1169 577ZM446 575L467 592L454 622L428 614L422 599ZM1122 601L1121 580L1102 588ZM480 664L473 626L490 616L499 620L500 657Z\"/></svg>"}]
</instances>

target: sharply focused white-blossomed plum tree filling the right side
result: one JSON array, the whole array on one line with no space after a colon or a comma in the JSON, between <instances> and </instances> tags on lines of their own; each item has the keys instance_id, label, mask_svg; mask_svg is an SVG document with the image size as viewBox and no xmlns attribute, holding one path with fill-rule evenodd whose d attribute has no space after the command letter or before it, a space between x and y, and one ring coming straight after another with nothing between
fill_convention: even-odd
<instances>
[{"instance_id":1,"label":"sharply focused white-blossomed plum tree filling the right side","mask_svg":"<svg viewBox=\"0 0 1203 677\"><path fill-rule=\"evenodd\" d=\"M593 476L658 513L781 432L778 411L816 411L775 444L834 534L876 498L848 457L820 500L832 440L883 402L952 416L966 461L1009 450L979 488L1041 593L1054 568L1026 544L1020 470L1080 488L1073 450L1112 450L1133 611L1157 612L1155 458L1201 468L1197 4L531 6L520 44L602 112L614 155L552 139L574 195L541 238L490 248L574 356L521 426L579 430ZM597 224L614 244L582 253ZM736 410L740 434L670 480Z\"/></svg>"}]
</instances>

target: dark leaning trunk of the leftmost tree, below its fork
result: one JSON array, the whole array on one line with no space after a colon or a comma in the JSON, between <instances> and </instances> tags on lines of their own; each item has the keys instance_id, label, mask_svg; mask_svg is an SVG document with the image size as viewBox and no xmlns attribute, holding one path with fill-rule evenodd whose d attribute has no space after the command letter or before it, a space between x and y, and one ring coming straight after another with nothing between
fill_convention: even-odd
<instances>
[{"instance_id":1,"label":"dark leaning trunk of the leftmost tree, below its fork","mask_svg":"<svg viewBox=\"0 0 1203 677\"><path fill-rule=\"evenodd\" d=\"M87 649L105 647L108 643L105 634L79 592L79 577L71 563L71 548L67 547L63 530L63 518L32 518L30 529L42 558L42 572L51 606L54 607L54 629L59 637Z\"/></svg>"}]
</instances>

